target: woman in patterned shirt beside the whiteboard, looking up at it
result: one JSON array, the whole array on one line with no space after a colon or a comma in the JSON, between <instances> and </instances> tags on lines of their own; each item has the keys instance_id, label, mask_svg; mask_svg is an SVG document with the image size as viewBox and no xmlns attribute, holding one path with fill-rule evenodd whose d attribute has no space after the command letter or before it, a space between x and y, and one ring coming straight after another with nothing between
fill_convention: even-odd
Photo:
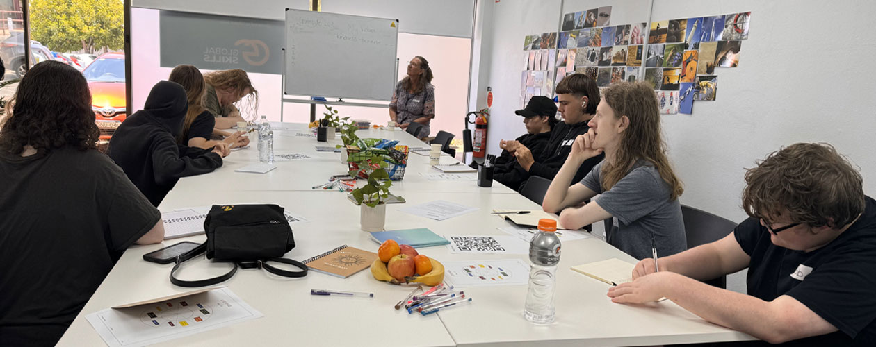
<instances>
[{"instance_id":1,"label":"woman in patterned shirt beside the whiteboard, looking up at it","mask_svg":"<svg viewBox=\"0 0 876 347\"><path fill-rule=\"evenodd\" d=\"M389 118L401 128L411 122L423 125L417 137L428 137L429 123L435 117L435 87L432 86L432 68L419 55L407 63L407 76L399 80L392 91L389 103Z\"/></svg>"}]
</instances>

